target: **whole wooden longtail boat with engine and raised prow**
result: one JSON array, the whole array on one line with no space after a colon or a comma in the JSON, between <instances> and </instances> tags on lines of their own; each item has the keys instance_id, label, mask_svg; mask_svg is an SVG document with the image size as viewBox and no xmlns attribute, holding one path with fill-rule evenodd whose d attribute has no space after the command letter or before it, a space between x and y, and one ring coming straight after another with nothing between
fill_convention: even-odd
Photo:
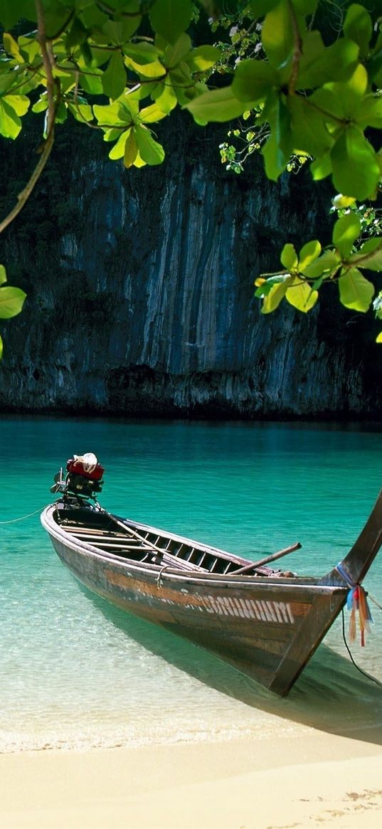
<instances>
[{"instance_id":1,"label":"whole wooden longtail boat with engine and raised prow","mask_svg":"<svg viewBox=\"0 0 382 829\"><path fill-rule=\"evenodd\" d=\"M41 523L71 573L93 593L205 648L281 696L382 542L381 492L340 564L321 578L297 576L267 565L300 545L251 562L105 511L96 500L104 468L94 455L70 458L66 469L51 487L60 498L42 512Z\"/></svg>"}]
</instances>

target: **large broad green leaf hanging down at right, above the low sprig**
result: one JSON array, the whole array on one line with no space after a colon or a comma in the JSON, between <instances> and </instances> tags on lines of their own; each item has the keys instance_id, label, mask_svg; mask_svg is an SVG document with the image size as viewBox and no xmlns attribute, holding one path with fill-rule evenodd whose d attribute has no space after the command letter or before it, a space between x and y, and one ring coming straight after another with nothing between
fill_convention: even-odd
<instances>
[{"instance_id":1,"label":"large broad green leaf hanging down at right, above the low sprig","mask_svg":"<svg viewBox=\"0 0 382 829\"><path fill-rule=\"evenodd\" d=\"M338 191L363 201L373 196L380 180L380 166L371 144L351 124L331 148L333 183Z\"/></svg>"}]
</instances>

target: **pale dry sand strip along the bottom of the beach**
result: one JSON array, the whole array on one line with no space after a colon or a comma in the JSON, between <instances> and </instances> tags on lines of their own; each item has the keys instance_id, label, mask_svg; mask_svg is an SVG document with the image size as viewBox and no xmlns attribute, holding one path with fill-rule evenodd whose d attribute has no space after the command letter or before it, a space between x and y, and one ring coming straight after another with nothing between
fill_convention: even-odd
<instances>
[{"instance_id":1,"label":"pale dry sand strip along the bottom of the beach","mask_svg":"<svg viewBox=\"0 0 382 829\"><path fill-rule=\"evenodd\" d=\"M0 756L1 829L380 829L382 730Z\"/></svg>"}]
</instances>

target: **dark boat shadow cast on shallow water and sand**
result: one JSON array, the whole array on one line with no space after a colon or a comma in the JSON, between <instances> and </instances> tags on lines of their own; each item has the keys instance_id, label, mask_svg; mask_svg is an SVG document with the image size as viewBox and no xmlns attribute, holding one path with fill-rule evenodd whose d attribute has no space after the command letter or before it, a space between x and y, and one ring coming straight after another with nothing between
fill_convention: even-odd
<instances>
[{"instance_id":1,"label":"dark boat shadow cast on shallow water and sand","mask_svg":"<svg viewBox=\"0 0 382 829\"><path fill-rule=\"evenodd\" d=\"M215 691L328 734L382 744L380 686L325 644L318 647L289 695L279 697L191 642L124 613L82 586L80 589L109 623L134 642Z\"/></svg>"}]
</instances>

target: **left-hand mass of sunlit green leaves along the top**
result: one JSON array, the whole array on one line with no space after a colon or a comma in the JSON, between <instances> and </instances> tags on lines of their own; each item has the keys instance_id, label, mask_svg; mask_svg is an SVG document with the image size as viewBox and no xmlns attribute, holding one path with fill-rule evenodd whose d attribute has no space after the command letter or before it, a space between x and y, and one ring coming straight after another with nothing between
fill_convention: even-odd
<instances>
[{"instance_id":1,"label":"left-hand mass of sunlit green leaves along the top","mask_svg":"<svg viewBox=\"0 0 382 829\"><path fill-rule=\"evenodd\" d=\"M3 36L0 133L17 138L34 93L31 109L46 114L45 135L49 116L63 123L71 115L99 128L114 143L109 157L123 158L125 167L161 163L165 153L150 125L204 91L199 78L219 57L214 46L192 48L191 0L44 0L41 7L39 17L29 0L17 9L2 3L4 27L22 15L37 29Z\"/></svg>"}]
</instances>

